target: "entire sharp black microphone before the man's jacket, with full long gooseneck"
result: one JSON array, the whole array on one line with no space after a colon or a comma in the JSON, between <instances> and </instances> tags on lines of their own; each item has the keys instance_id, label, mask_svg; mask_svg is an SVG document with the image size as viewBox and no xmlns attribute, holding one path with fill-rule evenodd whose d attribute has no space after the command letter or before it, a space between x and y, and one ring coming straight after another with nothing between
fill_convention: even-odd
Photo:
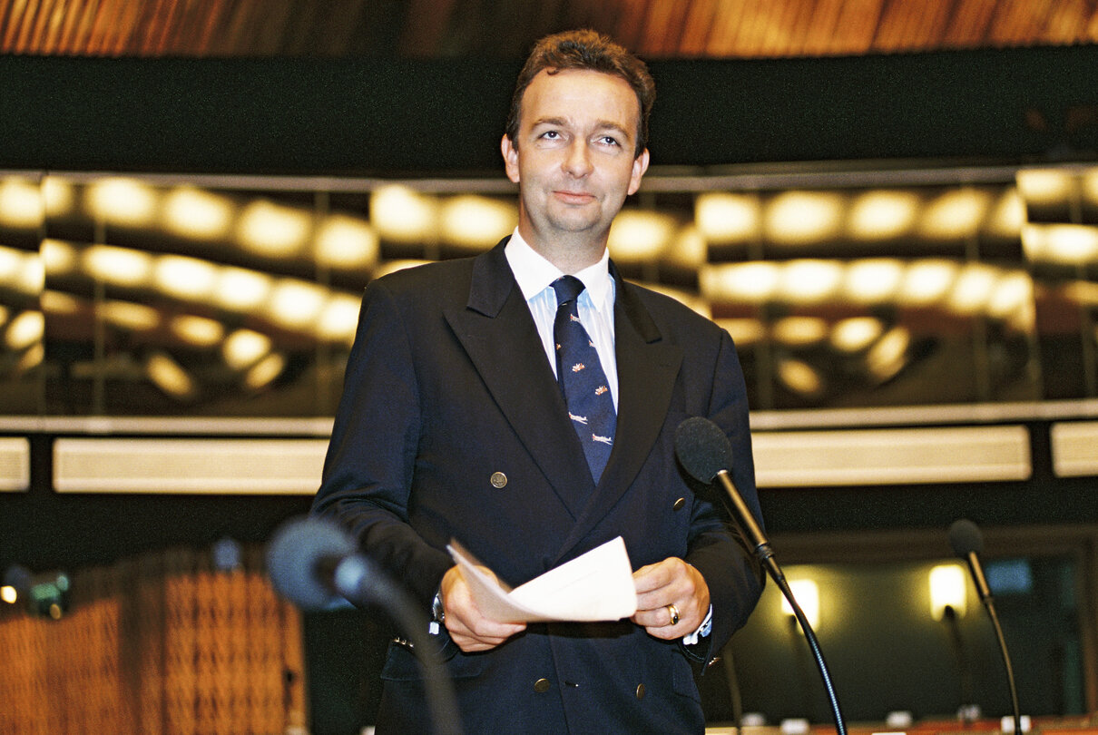
<instances>
[{"instance_id":1,"label":"entire sharp black microphone before the man's jacket, with full long gooseneck","mask_svg":"<svg viewBox=\"0 0 1098 735\"><path fill-rule=\"evenodd\" d=\"M755 520L754 513L748 508L743 495L736 489L736 483L732 481L729 472L732 466L732 447L728 437L725 436L719 426L708 419L699 416L687 419L679 424L675 432L675 454L683 469L695 480L705 485L716 482L725 490L721 500L729 515L736 522L744 546L766 569L793 609L793 614L805 634L805 641L808 642L808 647L813 652L813 658L816 659L816 668L819 669L828 703L831 705L836 731L838 735L847 735L847 725L839 708L839 698L834 692L831 673L828 670L827 661L824 660L824 652L816 639L816 633L813 631L805 612L797 604L796 598L793 597L793 590L785 580L785 575L782 572L777 559L774 558L774 550L770 547L770 542ZM1021 734L1019 733L1019 735Z\"/></svg>"}]
</instances>

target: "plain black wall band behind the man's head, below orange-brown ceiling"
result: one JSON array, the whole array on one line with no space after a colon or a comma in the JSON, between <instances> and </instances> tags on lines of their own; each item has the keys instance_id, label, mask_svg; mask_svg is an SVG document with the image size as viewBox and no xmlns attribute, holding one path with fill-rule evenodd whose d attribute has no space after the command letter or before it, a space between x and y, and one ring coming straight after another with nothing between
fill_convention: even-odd
<instances>
[{"instance_id":1,"label":"plain black wall band behind the man's head, below orange-brown ceiling","mask_svg":"<svg viewBox=\"0 0 1098 735\"><path fill-rule=\"evenodd\" d=\"M517 64L0 57L0 167L496 170ZM653 162L1098 149L1098 48L653 62Z\"/></svg>"}]
</instances>

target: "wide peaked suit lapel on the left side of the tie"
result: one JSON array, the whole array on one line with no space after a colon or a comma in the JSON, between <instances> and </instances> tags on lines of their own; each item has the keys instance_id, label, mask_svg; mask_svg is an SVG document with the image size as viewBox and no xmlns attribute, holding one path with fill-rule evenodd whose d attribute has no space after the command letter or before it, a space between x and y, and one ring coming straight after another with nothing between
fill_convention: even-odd
<instances>
[{"instance_id":1,"label":"wide peaked suit lapel on the left side of the tie","mask_svg":"<svg viewBox=\"0 0 1098 735\"><path fill-rule=\"evenodd\" d=\"M579 516L591 475L504 243L475 259L469 301L446 319L518 439Z\"/></svg>"}]
</instances>

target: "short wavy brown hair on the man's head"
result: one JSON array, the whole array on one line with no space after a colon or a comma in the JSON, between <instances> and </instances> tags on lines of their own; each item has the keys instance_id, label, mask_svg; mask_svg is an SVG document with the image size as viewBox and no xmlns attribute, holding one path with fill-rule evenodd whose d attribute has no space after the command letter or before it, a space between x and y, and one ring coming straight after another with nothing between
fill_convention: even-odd
<instances>
[{"instance_id":1,"label":"short wavy brown hair on the man's head","mask_svg":"<svg viewBox=\"0 0 1098 735\"><path fill-rule=\"evenodd\" d=\"M511 98L507 115L507 137L517 146L518 113L523 94L534 77L542 69L550 74L561 69L587 69L620 77L629 82L640 103L640 119L637 123L637 149L639 156L648 145L648 118L656 101L656 82L648 73L648 66L609 37L595 31L565 31L541 38L534 45L523 70L515 82L515 93Z\"/></svg>"}]
</instances>

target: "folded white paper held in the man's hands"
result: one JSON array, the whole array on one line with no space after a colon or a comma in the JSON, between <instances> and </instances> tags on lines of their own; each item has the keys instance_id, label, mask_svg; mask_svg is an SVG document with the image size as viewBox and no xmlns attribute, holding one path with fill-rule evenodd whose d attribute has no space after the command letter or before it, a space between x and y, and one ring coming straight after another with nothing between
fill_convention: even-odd
<instances>
[{"instance_id":1,"label":"folded white paper held in the man's hands","mask_svg":"<svg viewBox=\"0 0 1098 735\"><path fill-rule=\"evenodd\" d=\"M458 542L450 539L446 548L481 612L502 623L615 621L637 612L632 566L620 536L514 590L484 571Z\"/></svg>"}]
</instances>

